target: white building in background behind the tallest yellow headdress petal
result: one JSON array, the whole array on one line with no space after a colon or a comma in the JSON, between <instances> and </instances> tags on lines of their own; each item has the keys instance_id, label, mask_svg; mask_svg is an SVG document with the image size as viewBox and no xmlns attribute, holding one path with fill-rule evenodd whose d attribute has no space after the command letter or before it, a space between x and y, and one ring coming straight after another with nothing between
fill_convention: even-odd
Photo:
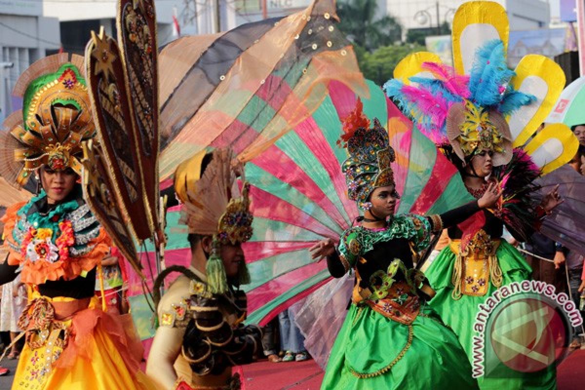
<instances>
[{"instance_id":1,"label":"white building in background behind the tallest yellow headdress petal","mask_svg":"<svg viewBox=\"0 0 585 390\"><path fill-rule=\"evenodd\" d=\"M378 0L378 15L395 16L406 33L408 29L431 28L453 20L456 9L467 0ZM510 30L548 28L548 0L495 0L503 5L510 20ZM444 32L443 32L444 33Z\"/></svg>"}]
</instances>

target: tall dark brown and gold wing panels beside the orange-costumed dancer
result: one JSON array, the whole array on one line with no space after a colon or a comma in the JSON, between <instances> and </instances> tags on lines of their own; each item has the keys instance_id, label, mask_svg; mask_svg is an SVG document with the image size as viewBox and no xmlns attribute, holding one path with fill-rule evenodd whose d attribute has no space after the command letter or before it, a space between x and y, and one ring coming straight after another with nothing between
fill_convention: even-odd
<instances>
[{"instance_id":1,"label":"tall dark brown and gold wing panels beside the orange-costumed dancer","mask_svg":"<svg viewBox=\"0 0 585 390\"><path fill-rule=\"evenodd\" d=\"M92 32L85 49L99 147L85 147L84 187L104 228L140 268L136 250L130 250L133 239L153 239L157 246L164 241L157 169L156 15L152 0L120 0L117 9L117 42L102 27L98 34ZM102 168L94 169L92 163ZM105 190L108 202L100 195Z\"/></svg>"}]
</instances>

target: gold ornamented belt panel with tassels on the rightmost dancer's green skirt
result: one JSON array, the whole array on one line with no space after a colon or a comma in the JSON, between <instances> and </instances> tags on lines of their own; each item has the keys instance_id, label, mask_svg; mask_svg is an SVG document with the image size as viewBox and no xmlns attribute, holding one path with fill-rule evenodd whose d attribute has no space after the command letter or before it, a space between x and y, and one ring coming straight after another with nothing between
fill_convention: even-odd
<instances>
[{"instance_id":1,"label":"gold ornamented belt panel with tassels on the rightmost dancer's green skirt","mask_svg":"<svg viewBox=\"0 0 585 390\"><path fill-rule=\"evenodd\" d=\"M450 241L449 247L457 256L451 277L453 299L462 295L484 296L490 282L495 287L502 285L502 270L496 256L500 243L500 239L491 239L484 230L479 230L467 244L462 240Z\"/></svg>"}]
</instances>

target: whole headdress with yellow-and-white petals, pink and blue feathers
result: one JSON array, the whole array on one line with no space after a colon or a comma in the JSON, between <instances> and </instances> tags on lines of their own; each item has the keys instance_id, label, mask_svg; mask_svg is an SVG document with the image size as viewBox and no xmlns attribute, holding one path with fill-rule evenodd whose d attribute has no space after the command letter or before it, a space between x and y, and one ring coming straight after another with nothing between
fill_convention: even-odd
<instances>
[{"instance_id":1,"label":"whole headdress with yellow-and-white petals, pink and blue feathers","mask_svg":"<svg viewBox=\"0 0 585 390\"><path fill-rule=\"evenodd\" d=\"M543 174L563 165L576 147L570 130L549 125L534 136L565 85L559 65L528 54L508 68L508 17L496 2L462 4L452 30L453 68L436 54L410 54L384 85L388 96L426 136L449 141L461 160L490 150L493 165L503 165L512 148L523 147Z\"/></svg>"}]
</instances>

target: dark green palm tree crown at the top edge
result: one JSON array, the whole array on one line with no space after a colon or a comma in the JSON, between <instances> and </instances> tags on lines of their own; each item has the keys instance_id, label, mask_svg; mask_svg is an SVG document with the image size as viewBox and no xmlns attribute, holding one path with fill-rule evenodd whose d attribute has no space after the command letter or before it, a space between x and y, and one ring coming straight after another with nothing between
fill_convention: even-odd
<instances>
[{"instance_id":1,"label":"dark green palm tree crown at the top edge","mask_svg":"<svg viewBox=\"0 0 585 390\"><path fill-rule=\"evenodd\" d=\"M340 0L339 29L358 46L368 51L402 40L402 26L393 16L376 18L376 0Z\"/></svg>"}]
</instances>

